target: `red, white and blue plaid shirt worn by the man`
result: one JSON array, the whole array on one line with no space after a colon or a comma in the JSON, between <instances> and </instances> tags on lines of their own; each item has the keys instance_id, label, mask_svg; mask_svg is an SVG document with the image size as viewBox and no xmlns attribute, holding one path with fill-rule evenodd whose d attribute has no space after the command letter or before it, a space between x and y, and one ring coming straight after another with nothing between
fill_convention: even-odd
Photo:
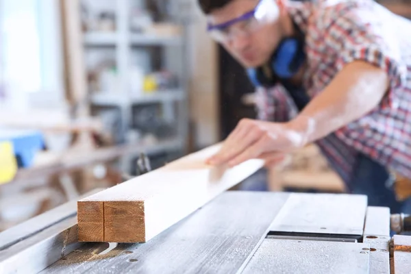
<instances>
[{"instance_id":1,"label":"red, white and blue plaid shirt worn by the man","mask_svg":"<svg viewBox=\"0 0 411 274\"><path fill-rule=\"evenodd\" d=\"M389 75L377 108L316 141L347 188L360 153L411 178L411 22L372 0L290 1L293 21L306 36L303 89L321 92L345 64L364 60ZM297 109L282 85L256 90L258 119L288 121Z\"/></svg>"}]
</instances>

